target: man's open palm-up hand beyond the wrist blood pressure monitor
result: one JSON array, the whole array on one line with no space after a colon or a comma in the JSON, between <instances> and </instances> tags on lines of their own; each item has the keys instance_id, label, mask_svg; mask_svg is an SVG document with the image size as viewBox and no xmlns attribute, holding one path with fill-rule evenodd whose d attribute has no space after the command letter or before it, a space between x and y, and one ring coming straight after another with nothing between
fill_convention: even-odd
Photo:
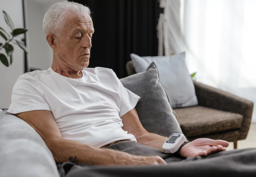
<instances>
[{"instance_id":1,"label":"man's open palm-up hand beyond the wrist blood pressure monitor","mask_svg":"<svg viewBox=\"0 0 256 177\"><path fill-rule=\"evenodd\" d=\"M185 144L180 150L180 155L185 158L205 156L216 151L226 151L226 147L228 147L227 141L198 138Z\"/></svg>"}]
</instances>

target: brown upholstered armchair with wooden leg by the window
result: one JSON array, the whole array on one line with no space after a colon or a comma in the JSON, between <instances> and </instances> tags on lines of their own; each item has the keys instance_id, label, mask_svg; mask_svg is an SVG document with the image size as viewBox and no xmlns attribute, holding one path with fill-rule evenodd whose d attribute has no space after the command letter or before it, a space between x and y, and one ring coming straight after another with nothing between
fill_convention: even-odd
<instances>
[{"instance_id":1,"label":"brown upholstered armchair with wooden leg by the window","mask_svg":"<svg viewBox=\"0 0 256 177\"><path fill-rule=\"evenodd\" d=\"M131 61L126 63L128 75L135 74ZM198 105L174 108L180 127L189 141L197 138L234 142L246 139L253 102L228 92L194 81Z\"/></svg>"}]
</instances>

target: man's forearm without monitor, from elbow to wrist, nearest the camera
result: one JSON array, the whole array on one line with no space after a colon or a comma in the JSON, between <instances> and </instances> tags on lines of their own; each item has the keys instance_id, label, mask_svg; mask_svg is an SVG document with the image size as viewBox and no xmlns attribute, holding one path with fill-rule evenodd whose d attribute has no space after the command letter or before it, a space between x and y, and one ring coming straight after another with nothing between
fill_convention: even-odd
<instances>
[{"instance_id":1,"label":"man's forearm without monitor, from elbow to wrist, nearest the camera","mask_svg":"<svg viewBox=\"0 0 256 177\"><path fill-rule=\"evenodd\" d=\"M52 139L46 144L52 151L55 161L60 163L69 161L70 157L76 157L79 164L90 165L126 165L130 159L136 159L126 152L96 148L63 138Z\"/></svg>"}]
</instances>

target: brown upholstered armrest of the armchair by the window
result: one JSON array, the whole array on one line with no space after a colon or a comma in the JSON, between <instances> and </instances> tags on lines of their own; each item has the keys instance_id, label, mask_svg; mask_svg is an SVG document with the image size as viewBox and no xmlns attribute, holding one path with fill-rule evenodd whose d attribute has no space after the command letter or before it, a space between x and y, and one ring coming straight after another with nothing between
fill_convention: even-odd
<instances>
[{"instance_id":1,"label":"brown upholstered armrest of the armchair by the window","mask_svg":"<svg viewBox=\"0 0 256 177\"><path fill-rule=\"evenodd\" d=\"M247 136L252 120L253 102L194 81L198 105L243 115L241 136Z\"/></svg>"}]
</instances>

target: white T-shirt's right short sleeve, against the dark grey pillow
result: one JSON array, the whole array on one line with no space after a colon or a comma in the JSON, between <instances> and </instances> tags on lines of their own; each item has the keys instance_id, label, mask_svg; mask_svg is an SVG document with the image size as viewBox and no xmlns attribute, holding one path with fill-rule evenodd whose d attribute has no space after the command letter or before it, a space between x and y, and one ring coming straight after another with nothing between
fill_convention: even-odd
<instances>
[{"instance_id":1,"label":"white T-shirt's right short sleeve, against the dark grey pillow","mask_svg":"<svg viewBox=\"0 0 256 177\"><path fill-rule=\"evenodd\" d=\"M120 88L120 111L119 116L122 117L127 112L131 111L140 100L140 97L136 95L135 93L131 92L127 88L124 87L124 85L121 83L121 81L116 76L116 73L112 70L114 76L117 79L119 88Z\"/></svg>"}]
</instances>

